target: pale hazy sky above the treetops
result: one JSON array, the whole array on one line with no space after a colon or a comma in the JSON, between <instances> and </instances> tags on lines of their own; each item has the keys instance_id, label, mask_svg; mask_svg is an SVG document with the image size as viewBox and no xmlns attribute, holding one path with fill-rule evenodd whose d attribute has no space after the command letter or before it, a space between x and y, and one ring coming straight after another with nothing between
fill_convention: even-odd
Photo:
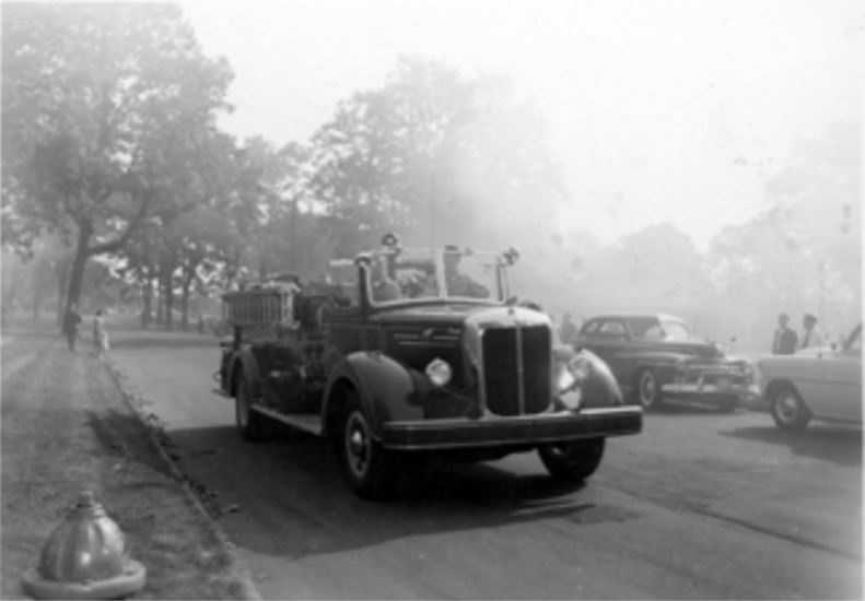
<instances>
[{"instance_id":1,"label":"pale hazy sky above the treetops","mask_svg":"<svg viewBox=\"0 0 865 601\"><path fill-rule=\"evenodd\" d=\"M223 126L305 142L400 54L507 74L546 114L572 200L610 240L671 221L701 247L752 216L796 139L862 117L865 3L805 0L182 2L235 70Z\"/></svg>"}]
</instances>

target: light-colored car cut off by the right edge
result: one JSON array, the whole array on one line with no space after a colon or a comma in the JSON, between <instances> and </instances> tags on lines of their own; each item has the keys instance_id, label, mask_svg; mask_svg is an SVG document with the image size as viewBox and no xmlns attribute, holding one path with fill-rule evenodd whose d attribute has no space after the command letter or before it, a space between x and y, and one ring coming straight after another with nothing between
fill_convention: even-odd
<instances>
[{"instance_id":1,"label":"light-colored car cut off by the right edge","mask_svg":"<svg viewBox=\"0 0 865 601\"><path fill-rule=\"evenodd\" d=\"M840 345L757 360L756 381L778 427L811 420L862 424L862 323Z\"/></svg>"}]
</instances>

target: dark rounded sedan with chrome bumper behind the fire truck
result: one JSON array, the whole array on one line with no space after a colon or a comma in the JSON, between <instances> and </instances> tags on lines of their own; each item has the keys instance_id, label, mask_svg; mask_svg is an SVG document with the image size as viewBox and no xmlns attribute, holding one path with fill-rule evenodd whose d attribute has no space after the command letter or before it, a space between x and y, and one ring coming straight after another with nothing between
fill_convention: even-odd
<instances>
[{"instance_id":1,"label":"dark rounded sedan with chrome bumper behind the fire truck","mask_svg":"<svg viewBox=\"0 0 865 601\"><path fill-rule=\"evenodd\" d=\"M596 316L580 329L574 345L607 362L622 392L644 409L675 398L733 411L751 393L750 362L725 356L671 315Z\"/></svg>"}]
</instances>

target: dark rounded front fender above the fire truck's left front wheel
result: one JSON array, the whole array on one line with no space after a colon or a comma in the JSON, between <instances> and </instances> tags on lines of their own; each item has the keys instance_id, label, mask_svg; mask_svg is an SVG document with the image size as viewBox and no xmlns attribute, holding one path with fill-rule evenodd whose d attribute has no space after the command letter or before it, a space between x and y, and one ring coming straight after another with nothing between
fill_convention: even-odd
<instances>
[{"instance_id":1,"label":"dark rounded front fender above the fire truck's left front wheel","mask_svg":"<svg viewBox=\"0 0 865 601\"><path fill-rule=\"evenodd\" d=\"M409 403L421 382L417 372L378 352L359 351L340 358L330 372L322 408L325 431L329 434L346 386L358 391L370 420L373 435L381 438L383 424L397 420L422 420L423 410Z\"/></svg>"}]
</instances>

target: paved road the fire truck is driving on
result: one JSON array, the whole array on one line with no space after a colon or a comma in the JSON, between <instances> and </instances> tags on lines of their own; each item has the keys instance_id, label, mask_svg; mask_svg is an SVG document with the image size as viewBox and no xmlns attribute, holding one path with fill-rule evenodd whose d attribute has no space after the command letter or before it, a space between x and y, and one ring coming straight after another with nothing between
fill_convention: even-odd
<instances>
[{"instance_id":1,"label":"paved road the fire truck is driving on","mask_svg":"<svg viewBox=\"0 0 865 601\"><path fill-rule=\"evenodd\" d=\"M113 345L265 598L862 598L858 428L787 436L764 413L677 405L609 440L582 486L525 453L435 466L372 504L320 439L239 439L213 339Z\"/></svg>"}]
</instances>

